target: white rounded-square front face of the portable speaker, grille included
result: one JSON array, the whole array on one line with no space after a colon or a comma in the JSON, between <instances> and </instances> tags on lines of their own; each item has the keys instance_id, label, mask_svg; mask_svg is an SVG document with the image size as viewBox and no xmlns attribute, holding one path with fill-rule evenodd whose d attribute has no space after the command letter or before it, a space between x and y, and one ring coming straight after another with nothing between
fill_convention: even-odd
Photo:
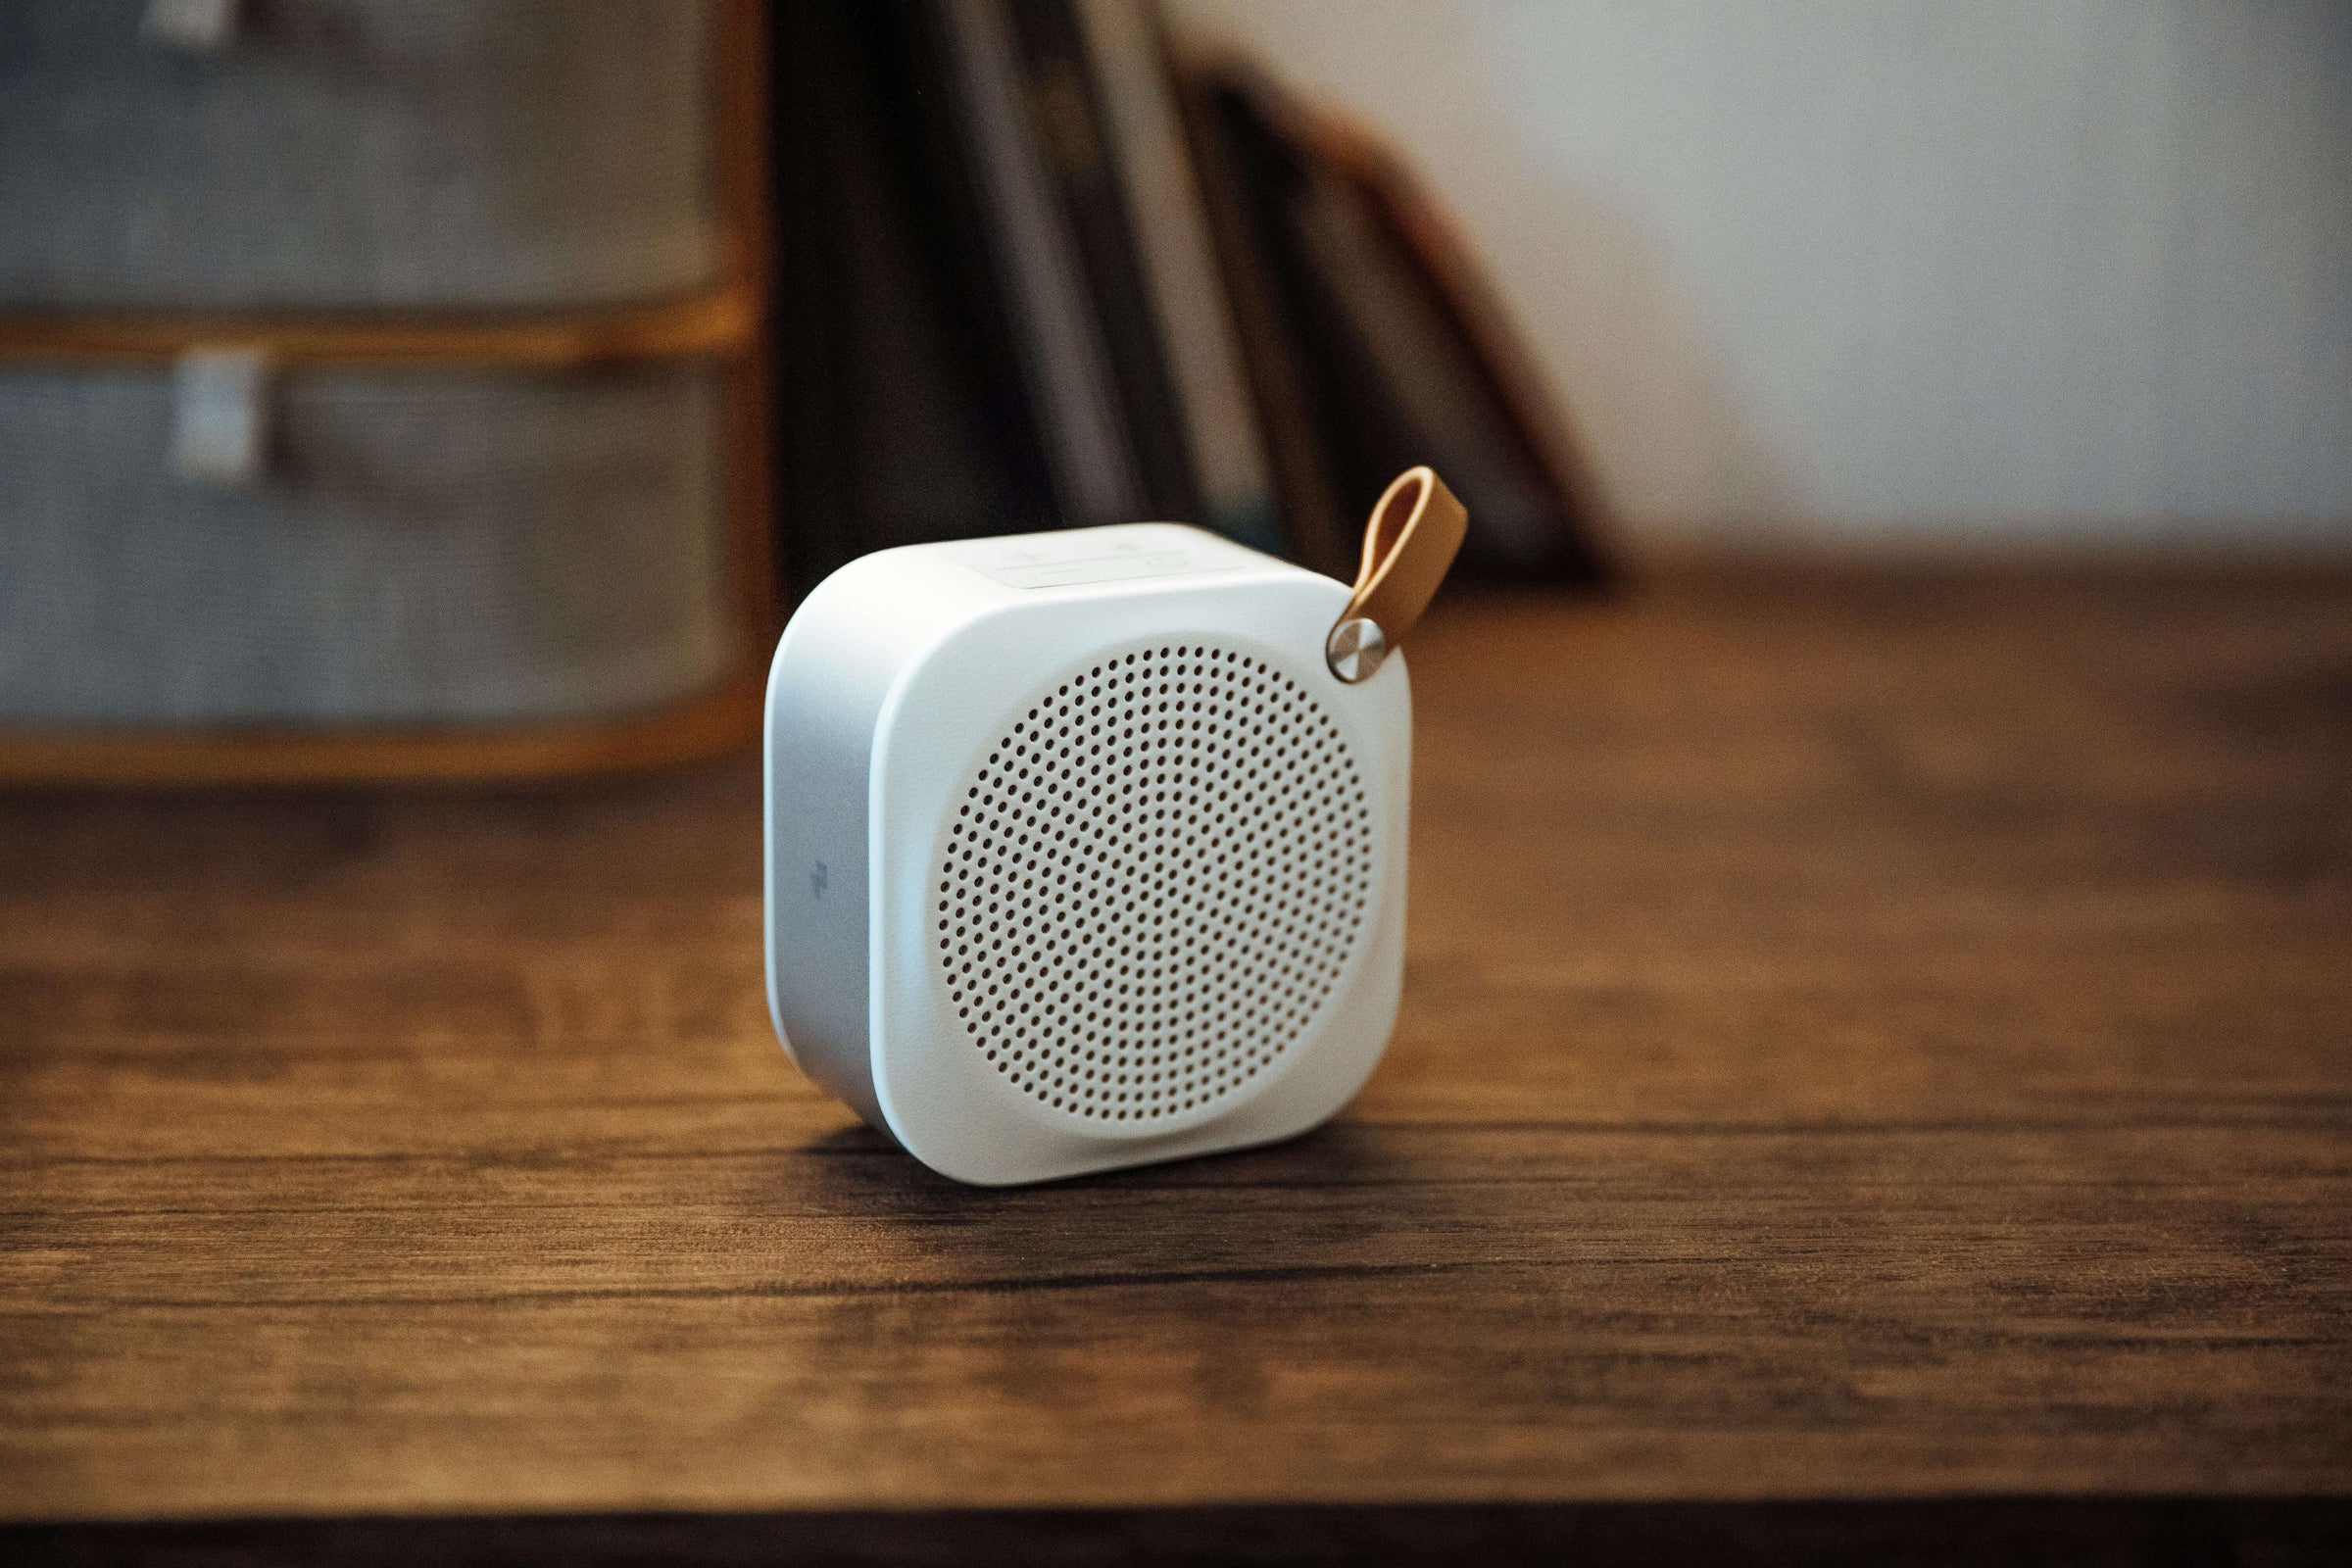
<instances>
[{"instance_id":1,"label":"white rounded-square front face of the portable speaker, grille included","mask_svg":"<svg viewBox=\"0 0 2352 1568\"><path fill-rule=\"evenodd\" d=\"M1322 663L1310 574L1040 595L950 630L875 736L873 1056L981 1182L1265 1143L1388 1044L1404 663Z\"/></svg>"}]
</instances>

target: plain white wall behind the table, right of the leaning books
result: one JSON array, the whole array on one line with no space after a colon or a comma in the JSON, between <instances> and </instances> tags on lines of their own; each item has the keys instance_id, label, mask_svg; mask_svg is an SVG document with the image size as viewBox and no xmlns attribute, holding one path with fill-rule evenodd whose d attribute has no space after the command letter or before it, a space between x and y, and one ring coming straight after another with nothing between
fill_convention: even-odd
<instances>
[{"instance_id":1,"label":"plain white wall behind the table, right of the leaning books","mask_svg":"<svg viewBox=\"0 0 2352 1568\"><path fill-rule=\"evenodd\" d=\"M2352 5L1176 0L1390 134L1646 536L2352 543Z\"/></svg>"}]
</instances>

